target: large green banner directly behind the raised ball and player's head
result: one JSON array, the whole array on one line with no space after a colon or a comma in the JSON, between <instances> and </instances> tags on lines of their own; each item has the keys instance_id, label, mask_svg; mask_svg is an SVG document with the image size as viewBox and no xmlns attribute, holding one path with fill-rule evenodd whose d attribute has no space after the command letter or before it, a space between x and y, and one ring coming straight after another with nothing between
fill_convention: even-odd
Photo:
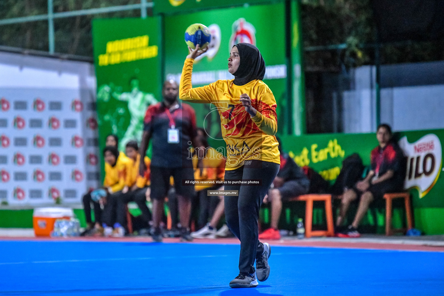
<instances>
[{"instance_id":1,"label":"large green banner directly behind the raised ball and player's head","mask_svg":"<svg viewBox=\"0 0 444 296\"><path fill-rule=\"evenodd\" d=\"M270 16L273 16L271 18ZM211 32L206 54L194 62L193 86L203 86L218 79L233 79L228 72L230 49L236 43L255 44L266 63L264 82L277 101L278 133L285 124L286 76L285 11L283 4L257 5L196 12L165 17L165 75L180 80L188 48L184 40L186 28L193 23L205 24ZM222 140L220 118L212 104L191 104L198 126L205 126L212 138ZM224 146L220 141L217 146Z\"/></svg>"}]
</instances>

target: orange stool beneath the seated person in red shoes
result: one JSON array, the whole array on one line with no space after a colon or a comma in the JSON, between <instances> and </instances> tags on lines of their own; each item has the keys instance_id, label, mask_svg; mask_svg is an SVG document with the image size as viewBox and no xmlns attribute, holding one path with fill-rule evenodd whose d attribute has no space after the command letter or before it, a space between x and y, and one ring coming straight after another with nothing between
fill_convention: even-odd
<instances>
[{"instance_id":1,"label":"orange stool beneath the seated person in red shoes","mask_svg":"<svg viewBox=\"0 0 444 296\"><path fill-rule=\"evenodd\" d=\"M305 237L334 236L333 211L331 194L304 194L292 197L289 201L305 201ZM325 201L325 216L327 218L327 230L311 230L313 223L313 201Z\"/></svg>"}]
</instances>

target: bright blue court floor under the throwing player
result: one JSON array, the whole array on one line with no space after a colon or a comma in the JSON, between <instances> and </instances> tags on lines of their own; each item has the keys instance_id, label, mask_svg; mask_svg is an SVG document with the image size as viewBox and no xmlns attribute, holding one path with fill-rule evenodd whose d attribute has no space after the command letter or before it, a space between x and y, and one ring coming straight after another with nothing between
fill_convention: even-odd
<instances>
[{"instance_id":1,"label":"bright blue court floor under the throwing player","mask_svg":"<svg viewBox=\"0 0 444 296\"><path fill-rule=\"evenodd\" d=\"M279 246L267 281L230 289L239 248L0 241L0 295L444 295L444 253Z\"/></svg>"}]
</instances>

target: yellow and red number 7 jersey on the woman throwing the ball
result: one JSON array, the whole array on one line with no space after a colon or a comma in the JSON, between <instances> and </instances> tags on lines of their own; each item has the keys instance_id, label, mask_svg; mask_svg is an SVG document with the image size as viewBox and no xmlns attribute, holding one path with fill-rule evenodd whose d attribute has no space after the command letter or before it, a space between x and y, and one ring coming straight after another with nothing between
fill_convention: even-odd
<instances>
[{"instance_id":1,"label":"yellow and red number 7 jersey on the woman throwing the ball","mask_svg":"<svg viewBox=\"0 0 444 296\"><path fill-rule=\"evenodd\" d=\"M192 103L212 103L221 117L222 137L226 142L225 170L234 170L246 160L258 159L280 164L276 100L262 80L238 86L231 80L218 80L204 87L192 87L194 59L185 59L179 85L179 98ZM258 112L251 117L242 106L240 96L250 96L251 106Z\"/></svg>"}]
</instances>

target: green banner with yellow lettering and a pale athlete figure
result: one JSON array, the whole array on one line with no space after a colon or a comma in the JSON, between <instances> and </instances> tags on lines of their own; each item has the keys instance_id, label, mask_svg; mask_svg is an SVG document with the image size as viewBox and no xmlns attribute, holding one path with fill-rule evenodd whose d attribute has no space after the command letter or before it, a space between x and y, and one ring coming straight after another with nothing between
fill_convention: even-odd
<instances>
[{"instance_id":1,"label":"green banner with yellow lettering and a pale athlete figure","mask_svg":"<svg viewBox=\"0 0 444 296\"><path fill-rule=\"evenodd\" d=\"M161 100L160 22L160 17L93 22L101 150L108 134L119 137L120 151L130 140L140 142L145 111Z\"/></svg>"}]
</instances>

